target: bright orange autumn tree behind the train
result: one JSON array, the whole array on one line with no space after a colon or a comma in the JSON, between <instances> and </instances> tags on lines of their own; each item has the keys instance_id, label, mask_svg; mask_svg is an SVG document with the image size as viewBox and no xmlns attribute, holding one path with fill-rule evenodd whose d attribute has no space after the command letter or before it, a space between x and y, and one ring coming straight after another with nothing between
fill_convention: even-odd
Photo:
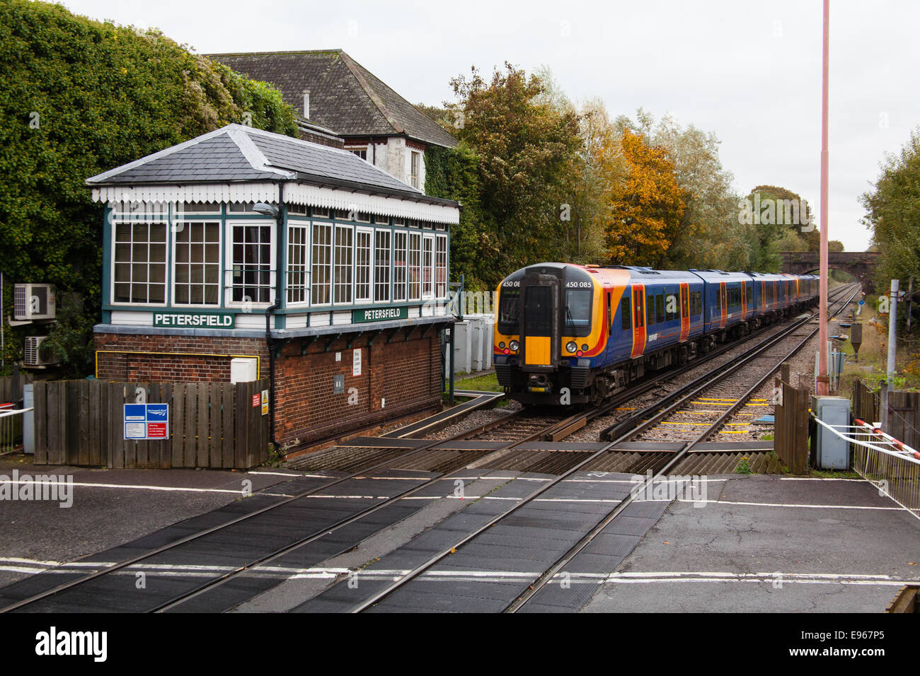
<instances>
[{"instance_id":1,"label":"bright orange autumn tree behind the train","mask_svg":"<svg viewBox=\"0 0 920 676\"><path fill-rule=\"evenodd\" d=\"M664 148L628 129L619 140L627 176L610 195L607 227L610 260L625 265L657 266L680 230L685 203L673 161Z\"/></svg>"}]
</instances>

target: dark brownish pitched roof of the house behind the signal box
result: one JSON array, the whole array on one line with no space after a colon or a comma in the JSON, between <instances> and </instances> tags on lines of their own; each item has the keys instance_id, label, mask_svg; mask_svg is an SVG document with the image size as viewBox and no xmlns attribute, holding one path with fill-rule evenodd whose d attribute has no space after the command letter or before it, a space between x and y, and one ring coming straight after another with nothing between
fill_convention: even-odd
<instances>
[{"instance_id":1,"label":"dark brownish pitched roof of the house behind the signal box","mask_svg":"<svg viewBox=\"0 0 920 676\"><path fill-rule=\"evenodd\" d=\"M344 137L393 136L445 147L456 140L341 50L206 54L238 73L269 82L284 100L304 112L310 92L310 121Z\"/></svg>"}]
</instances>

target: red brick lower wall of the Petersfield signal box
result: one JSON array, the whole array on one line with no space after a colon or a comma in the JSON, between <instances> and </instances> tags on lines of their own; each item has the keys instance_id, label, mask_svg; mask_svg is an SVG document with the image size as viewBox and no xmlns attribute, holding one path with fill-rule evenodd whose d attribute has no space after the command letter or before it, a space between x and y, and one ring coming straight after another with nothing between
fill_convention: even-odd
<instances>
[{"instance_id":1,"label":"red brick lower wall of the Petersfield signal box","mask_svg":"<svg viewBox=\"0 0 920 676\"><path fill-rule=\"evenodd\" d=\"M441 407L441 334L417 328L369 345L353 335L326 349L319 338L301 354L308 338L284 346L275 362L275 436L298 445L383 424ZM269 377L269 353L262 338L195 338L96 334L98 378L127 382L230 380L230 356L259 356L260 377ZM361 374L353 375L354 350L361 350ZM158 354L155 354L158 353ZM182 353L182 354L179 354ZM339 355L339 361L336 355ZM334 393L335 376L344 375L344 392Z\"/></svg>"}]
</instances>

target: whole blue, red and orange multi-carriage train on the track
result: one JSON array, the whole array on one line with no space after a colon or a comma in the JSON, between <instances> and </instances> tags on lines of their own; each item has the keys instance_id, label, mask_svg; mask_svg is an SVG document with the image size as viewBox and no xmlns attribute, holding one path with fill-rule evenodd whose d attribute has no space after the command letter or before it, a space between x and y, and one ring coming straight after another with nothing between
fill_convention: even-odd
<instances>
[{"instance_id":1,"label":"whole blue, red and orange multi-carriage train on the track","mask_svg":"<svg viewBox=\"0 0 920 676\"><path fill-rule=\"evenodd\" d=\"M597 405L818 303L819 278L538 263L496 290L493 363L524 406Z\"/></svg>"}]
</instances>

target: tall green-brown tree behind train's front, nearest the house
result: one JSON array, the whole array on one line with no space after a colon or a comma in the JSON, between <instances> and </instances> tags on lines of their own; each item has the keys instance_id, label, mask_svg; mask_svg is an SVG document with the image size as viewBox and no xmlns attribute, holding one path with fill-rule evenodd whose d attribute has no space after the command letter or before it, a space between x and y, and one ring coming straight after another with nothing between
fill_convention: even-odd
<instances>
[{"instance_id":1,"label":"tall green-brown tree behind train's front, nearest the house","mask_svg":"<svg viewBox=\"0 0 920 676\"><path fill-rule=\"evenodd\" d=\"M477 202L488 288L513 269L558 258L569 232L578 172L578 117L541 100L536 75L505 63L487 83L474 67L451 80L464 123L457 137L477 157Z\"/></svg>"}]
</instances>

